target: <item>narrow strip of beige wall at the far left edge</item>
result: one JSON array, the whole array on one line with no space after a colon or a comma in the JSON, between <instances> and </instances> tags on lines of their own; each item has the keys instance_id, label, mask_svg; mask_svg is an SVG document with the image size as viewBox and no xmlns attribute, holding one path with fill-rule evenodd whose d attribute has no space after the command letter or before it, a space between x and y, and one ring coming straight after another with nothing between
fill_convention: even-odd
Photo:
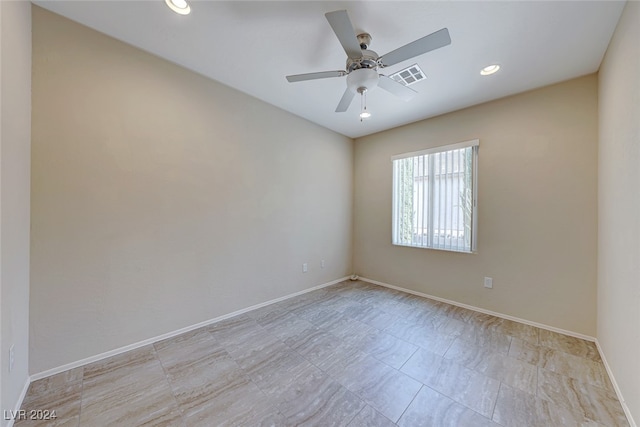
<instances>
[{"instance_id":1,"label":"narrow strip of beige wall at the far left edge","mask_svg":"<svg viewBox=\"0 0 640 427\"><path fill-rule=\"evenodd\" d=\"M29 376L31 3L0 1L0 410ZM15 363L9 372L9 347Z\"/></svg>"}]
</instances>

